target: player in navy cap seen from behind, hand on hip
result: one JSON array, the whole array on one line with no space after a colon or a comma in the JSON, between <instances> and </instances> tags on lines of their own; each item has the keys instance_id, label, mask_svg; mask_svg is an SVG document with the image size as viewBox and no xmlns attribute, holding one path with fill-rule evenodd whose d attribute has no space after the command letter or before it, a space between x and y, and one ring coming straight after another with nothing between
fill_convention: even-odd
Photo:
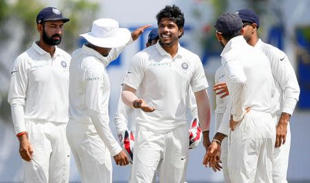
<instances>
[{"instance_id":1,"label":"player in navy cap seen from behind, hand on hip","mask_svg":"<svg viewBox=\"0 0 310 183\"><path fill-rule=\"evenodd\" d=\"M271 115L275 91L269 60L242 37L237 14L222 14L215 27L216 38L224 47L222 64L231 97L229 178L231 182L272 182L276 130ZM217 132L204 164L216 167L221 139L223 134Z\"/></svg>"}]
</instances>

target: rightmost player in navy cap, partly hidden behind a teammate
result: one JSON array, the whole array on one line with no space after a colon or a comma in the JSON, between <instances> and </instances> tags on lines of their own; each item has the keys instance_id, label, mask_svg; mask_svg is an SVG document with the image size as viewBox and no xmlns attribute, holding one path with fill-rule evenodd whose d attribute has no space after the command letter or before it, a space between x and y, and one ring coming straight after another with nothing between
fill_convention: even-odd
<instances>
[{"instance_id":1,"label":"rightmost player in navy cap, partly hidden behind a teammate","mask_svg":"<svg viewBox=\"0 0 310 183\"><path fill-rule=\"evenodd\" d=\"M289 119L293 114L299 99L300 88L295 71L287 55L258 38L260 21L252 10L242 9L236 12L240 16L247 43L260 49L267 56L273 80L276 84L276 94L272 100L272 114L276 126L276 149L274 150L273 182L287 182L287 167L289 165L289 149L291 146L291 129Z\"/></svg>"}]
</instances>

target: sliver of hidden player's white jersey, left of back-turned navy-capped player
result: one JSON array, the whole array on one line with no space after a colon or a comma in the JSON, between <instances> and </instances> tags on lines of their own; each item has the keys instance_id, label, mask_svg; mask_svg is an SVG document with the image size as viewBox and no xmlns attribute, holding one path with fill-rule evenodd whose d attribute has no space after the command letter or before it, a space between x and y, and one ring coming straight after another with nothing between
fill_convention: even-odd
<instances>
[{"instance_id":1,"label":"sliver of hidden player's white jersey, left of back-turned navy-capped player","mask_svg":"<svg viewBox=\"0 0 310 183\"><path fill-rule=\"evenodd\" d=\"M214 77L215 84L226 82L225 80L225 71L224 67L220 66L216 70L216 74ZM223 94L222 94L223 95ZM215 110L215 131L220 132L222 134L228 135L229 132L229 114L230 114L230 106L229 106L229 98L230 96L226 96L223 99L220 98L221 95L216 95L216 110Z\"/></svg>"}]
</instances>

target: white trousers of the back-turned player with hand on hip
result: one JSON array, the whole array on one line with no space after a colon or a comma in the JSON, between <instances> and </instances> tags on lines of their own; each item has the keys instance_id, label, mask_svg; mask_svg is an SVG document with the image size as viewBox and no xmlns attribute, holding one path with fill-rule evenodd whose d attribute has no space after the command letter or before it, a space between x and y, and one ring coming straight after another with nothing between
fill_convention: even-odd
<instances>
[{"instance_id":1,"label":"white trousers of the back-turned player with hand on hip","mask_svg":"<svg viewBox=\"0 0 310 183\"><path fill-rule=\"evenodd\" d=\"M271 114L250 110L230 133L228 168L233 183L271 183L276 128Z\"/></svg>"}]
</instances>

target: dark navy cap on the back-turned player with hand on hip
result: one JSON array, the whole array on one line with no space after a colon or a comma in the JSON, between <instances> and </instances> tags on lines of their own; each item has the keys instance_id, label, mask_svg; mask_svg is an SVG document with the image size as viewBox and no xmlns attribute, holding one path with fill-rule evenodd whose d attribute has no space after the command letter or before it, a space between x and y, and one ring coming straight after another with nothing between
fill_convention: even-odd
<instances>
[{"instance_id":1,"label":"dark navy cap on the back-turned player with hand on hip","mask_svg":"<svg viewBox=\"0 0 310 183\"><path fill-rule=\"evenodd\" d=\"M236 13L223 13L214 25L216 31L222 34L234 34L242 29L242 21Z\"/></svg>"}]
</instances>

